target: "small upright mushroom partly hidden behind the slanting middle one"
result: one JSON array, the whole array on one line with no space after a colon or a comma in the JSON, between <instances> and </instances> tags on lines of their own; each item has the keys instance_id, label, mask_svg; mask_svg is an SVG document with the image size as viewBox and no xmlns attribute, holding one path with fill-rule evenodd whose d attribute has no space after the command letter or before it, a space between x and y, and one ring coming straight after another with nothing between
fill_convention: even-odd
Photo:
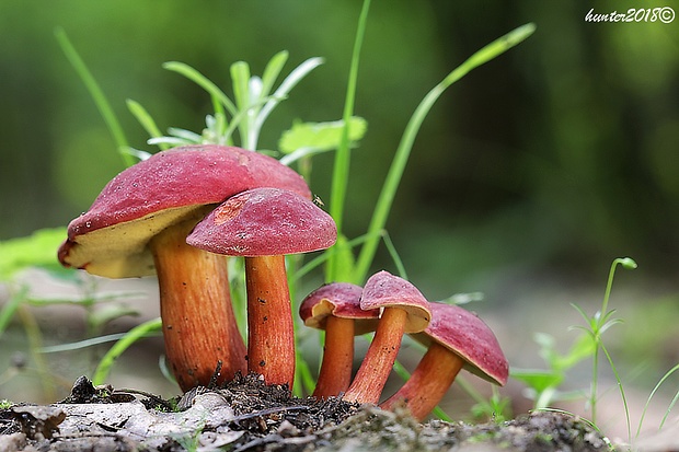
<instances>
[{"instance_id":1,"label":"small upright mushroom partly hidden behind the slanting middle one","mask_svg":"<svg viewBox=\"0 0 679 452\"><path fill-rule=\"evenodd\" d=\"M299 306L304 325L325 331L314 397L340 395L349 387L354 336L373 332L377 327L379 310L361 310L361 292L360 286L331 282L309 293Z\"/></svg>"}]
</instances>

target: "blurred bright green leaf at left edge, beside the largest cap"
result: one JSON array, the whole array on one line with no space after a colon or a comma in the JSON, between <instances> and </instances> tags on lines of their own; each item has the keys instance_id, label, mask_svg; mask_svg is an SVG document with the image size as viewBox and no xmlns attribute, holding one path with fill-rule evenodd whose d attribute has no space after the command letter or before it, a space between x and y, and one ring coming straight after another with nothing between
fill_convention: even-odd
<instances>
[{"instance_id":1,"label":"blurred bright green leaf at left edge, beside the largest cap","mask_svg":"<svg viewBox=\"0 0 679 452\"><path fill-rule=\"evenodd\" d=\"M57 250L66 235L66 228L41 229L25 237L0 242L0 280L27 267L60 269Z\"/></svg>"}]
</instances>

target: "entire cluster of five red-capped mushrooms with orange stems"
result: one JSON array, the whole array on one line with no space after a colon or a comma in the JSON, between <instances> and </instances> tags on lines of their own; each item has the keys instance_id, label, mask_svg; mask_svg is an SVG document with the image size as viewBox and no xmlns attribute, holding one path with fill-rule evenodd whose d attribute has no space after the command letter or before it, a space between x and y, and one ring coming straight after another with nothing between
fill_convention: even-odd
<instances>
[{"instance_id":1,"label":"entire cluster of five red-capped mushrooms with orange stems","mask_svg":"<svg viewBox=\"0 0 679 452\"><path fill-rule=\"evenodd\" d=\"M217 144L159 152L115 176L68 227L67 267L128 278L157 275L168 362L183 391L255 372L292 387L295 329L285 256L332 246L333 219L302 177L261 153ZM248 341L231 303L226 256L244 259ZM332 282L299 312L325 331L313 396L380 404L404 335L427 347L411 379L381 402L417 419L467 368L505 384L508 364L491 329L456 305L429 302L379 271L365 287ZM375 336L353 374L354 337ZM220 372L216 374L216 372Z\"/></svg>"}]
</instances>

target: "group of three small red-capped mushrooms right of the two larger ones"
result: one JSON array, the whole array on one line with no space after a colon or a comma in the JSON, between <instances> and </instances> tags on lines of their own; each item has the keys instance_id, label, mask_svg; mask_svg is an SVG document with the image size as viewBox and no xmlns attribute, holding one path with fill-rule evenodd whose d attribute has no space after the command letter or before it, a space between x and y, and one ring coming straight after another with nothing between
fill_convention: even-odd
<instances>
[{"instance_id":1,"label":"group of three small red-capped mushrooms right of the two larger ones","mask_svg":"<svg viewBox=\"0 0 679 452\"><path fill-rule=\"evenodd\" d=\"M494 384L507 382L507 360L483 321L460 306L428 302L415 286L387 271L372 275L362 289L345 283L322 286L303 300L300 316L307 326L326 332L313 393L318 397L378 404L404 334L423 343L427 351L408 381L381 408L405 404L422 420L463 368ZM354 334L370 331L375 336L352 380Z\"/></svg>"}]
</instances>

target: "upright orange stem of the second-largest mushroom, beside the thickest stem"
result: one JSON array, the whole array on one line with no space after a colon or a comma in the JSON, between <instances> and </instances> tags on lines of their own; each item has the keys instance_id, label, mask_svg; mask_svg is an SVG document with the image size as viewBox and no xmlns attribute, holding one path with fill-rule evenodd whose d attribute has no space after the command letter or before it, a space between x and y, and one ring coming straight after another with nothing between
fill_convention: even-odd
<instances>
[{"instance_id":1,"label":"upright orange stem of the second-largest mushroom, beside the thickest stem","mask_svg":"<svg viewBox=\"0 0 679 452\"><path fill-rule=\"evenodd\" d=\"M295 331L285 256L245 257L248 369L267 384L295 382Z\"/></svg>"}]
</instances>

